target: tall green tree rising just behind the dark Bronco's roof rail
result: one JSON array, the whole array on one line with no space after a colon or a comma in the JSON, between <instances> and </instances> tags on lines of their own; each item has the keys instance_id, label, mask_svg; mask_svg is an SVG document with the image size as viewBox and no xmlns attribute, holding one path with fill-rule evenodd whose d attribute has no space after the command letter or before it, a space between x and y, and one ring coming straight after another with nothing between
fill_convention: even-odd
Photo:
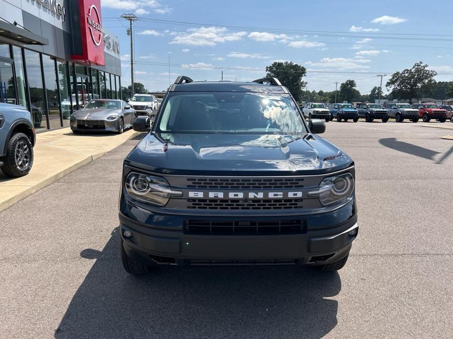
<instances>
[{"instance_id":1,"label":"tall green tree rising just behind the dark Bronco's roof rail","mask_svg":"<svg viewBox=\"0 0 453 339\"><path fill-rule=\"evenodd\" d=\"M285 85L294 99L297 102L303 101L302 88L305 87L306 83L302 81L302 78L307 74L307 70L304 66L294 64L291 62L274 62L269 66L266 66L266 77L274 77L280 80L282 85Z\"/></svg>"}]
</instances>

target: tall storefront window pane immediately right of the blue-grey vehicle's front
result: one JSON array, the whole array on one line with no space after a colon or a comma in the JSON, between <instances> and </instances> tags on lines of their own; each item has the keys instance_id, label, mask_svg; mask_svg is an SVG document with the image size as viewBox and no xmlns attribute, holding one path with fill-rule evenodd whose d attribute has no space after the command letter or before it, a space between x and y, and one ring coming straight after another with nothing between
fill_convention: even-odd
<instances>
[{"instance_id":1,"label":"tall storefront window pane immediately right of the blue-grey vehicle's front","mask_svg":"<svg viewBox=\"0 0 453 339\"><path fill-rule=\"evenodd\" d=\"M39 53L25 49L25 67L30 90L31 115L35 129L46 128L43 78Z\"/></svg>"}]
</instances>

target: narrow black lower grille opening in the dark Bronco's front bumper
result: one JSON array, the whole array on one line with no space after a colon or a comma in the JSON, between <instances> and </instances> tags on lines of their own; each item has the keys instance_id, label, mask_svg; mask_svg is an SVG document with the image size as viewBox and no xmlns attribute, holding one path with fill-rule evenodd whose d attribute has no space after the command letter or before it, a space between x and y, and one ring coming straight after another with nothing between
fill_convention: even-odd
<instances>
[{"instance_id":1,"label":"narrow black lower grille opening in the dark Bronco's front bumper","mask_svg":"<svg viewBox=\"0 0 453 339\"><path fill-rule=\"evenodd\" d=\"M307 233L307 222L295 220L184 220L185 234L272 235Z\"/></svg>"}]
</instances>

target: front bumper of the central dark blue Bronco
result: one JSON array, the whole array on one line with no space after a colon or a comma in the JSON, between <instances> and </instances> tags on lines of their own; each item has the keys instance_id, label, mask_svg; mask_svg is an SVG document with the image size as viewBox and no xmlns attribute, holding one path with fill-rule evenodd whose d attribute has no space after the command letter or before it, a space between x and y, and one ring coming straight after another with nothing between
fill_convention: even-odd
<instances>
[{"instance_id":1,"label":"front bumper of the central dark blue Bronco","mask_svg":"<svg viewBox=\"0 0 453 339\"><path fill-rule=\"evenodd\" d=\"M329 213L299 216L306 228L297 234L193 234L184 227L193 216L156 214L121 198L120 234L124 250L148 265L332 263L348 255L357 237L355 202ZM348 217L349 216L349 217ZM137 219L142 220L141 222ZM291 217L196 217L215 220L272 220ZM356 230L354 235L350 231ZM130 231L131 237L125 237Z\"/></svg>"}]
</instances>

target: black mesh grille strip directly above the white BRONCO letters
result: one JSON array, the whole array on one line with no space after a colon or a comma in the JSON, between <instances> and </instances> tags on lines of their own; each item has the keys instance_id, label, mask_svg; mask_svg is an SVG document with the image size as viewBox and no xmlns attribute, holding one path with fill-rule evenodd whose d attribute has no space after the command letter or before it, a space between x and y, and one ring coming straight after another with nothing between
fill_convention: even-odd
<instances>
[{"instance_id":1,"label":"black mesh grille strip directly above the white BRONCO letters","mask_svg":"<svg viewBox=\"0 0 453 339\"><path fill-rule=\"evenodd\" d=\"M187 187L196 189L294 189L304 187L303 178L187 178Z\"/></svg>"}]
</instances>

